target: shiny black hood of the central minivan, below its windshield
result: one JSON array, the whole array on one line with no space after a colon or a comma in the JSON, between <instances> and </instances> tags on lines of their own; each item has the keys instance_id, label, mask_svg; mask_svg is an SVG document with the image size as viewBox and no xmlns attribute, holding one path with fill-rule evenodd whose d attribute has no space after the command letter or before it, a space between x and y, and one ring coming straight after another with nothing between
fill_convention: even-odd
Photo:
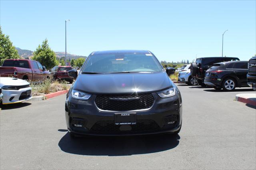
<instances>
[{"instance_id":1,"label":"shiny black hood of the central minivan, below its windshield","mask_svg":"<svg viewBox=\"0 0 256 170\"><path fill-rule=\"evenodd\" d=\"M164 72L80 74L73 87L91 94L139 93L167 89L170 81Z\"/></svg>"}]
</instances>

